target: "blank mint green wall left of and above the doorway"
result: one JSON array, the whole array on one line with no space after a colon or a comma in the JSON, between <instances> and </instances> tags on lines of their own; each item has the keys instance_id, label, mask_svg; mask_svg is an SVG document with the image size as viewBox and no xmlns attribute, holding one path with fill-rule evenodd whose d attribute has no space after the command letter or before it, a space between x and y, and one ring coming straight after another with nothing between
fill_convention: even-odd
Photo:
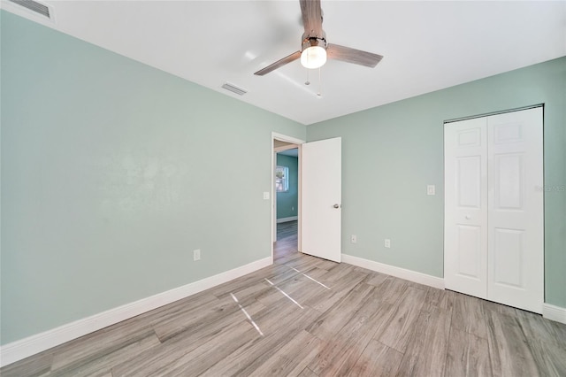
<instances>
[{"instance_id":1,"label":"blank mint green wall left of and above the doorway","mask_svg":"<svg viewBox=\"0 0 566 377\"><path fill-rule=\"evenodd\" d=\"M304 126L1 13L3 344L271 256Z\"/></svg>"}]
</instances>

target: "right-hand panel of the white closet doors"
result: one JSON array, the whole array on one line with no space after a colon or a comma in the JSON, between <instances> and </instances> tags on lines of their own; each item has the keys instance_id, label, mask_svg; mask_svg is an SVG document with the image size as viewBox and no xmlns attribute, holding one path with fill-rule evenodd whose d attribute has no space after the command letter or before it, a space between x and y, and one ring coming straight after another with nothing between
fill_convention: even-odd
<instances>
[{"instance_id":1,"label":"right-hand panel of the white closet doors","mask_svg":"<svg viewBox=\"0 0 566 377\"><path fill-rule=\"evenodd\" d=\"M490 116L487 129L488 298L542 312L542 108Z\"/></svg>"}]
</instances>

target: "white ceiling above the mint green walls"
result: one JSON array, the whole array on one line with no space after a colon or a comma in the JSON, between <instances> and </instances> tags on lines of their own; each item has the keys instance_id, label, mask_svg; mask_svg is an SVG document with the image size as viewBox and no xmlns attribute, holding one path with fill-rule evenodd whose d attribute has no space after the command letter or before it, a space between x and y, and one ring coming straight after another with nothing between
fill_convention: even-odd
<instances>
[{"instance_id":1,"label":"white ceiling above the mint green walls","mask_svg":"<svg viewBox=\"0 0 566 377\"><path fill-rule=\"evenodd\" d=\"M55 22L2 8L305 125L566 56L563 1L323 0L329 43L385 58L373 69L329 61L318 97L318 71L305 86L299 61L253 74L300 50L298 0L43 3Z\"/></svg>"}]
</instances>

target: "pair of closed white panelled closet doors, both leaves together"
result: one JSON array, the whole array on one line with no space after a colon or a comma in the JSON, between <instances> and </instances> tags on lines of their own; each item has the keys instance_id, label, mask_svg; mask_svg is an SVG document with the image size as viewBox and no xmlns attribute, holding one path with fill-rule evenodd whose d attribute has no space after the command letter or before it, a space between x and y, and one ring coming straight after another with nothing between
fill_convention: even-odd
<instances>
[{"instance_id":1,"label":"pair of closed white panelled closet doors, both leaves together","mask_svg":"<svg viewBox=\"0 0 566 377\"><path fill-rule=\"evenodd\" d=\"M445 126L445 285L542 312L542 108Z\"/></svg>"}]
</instances>

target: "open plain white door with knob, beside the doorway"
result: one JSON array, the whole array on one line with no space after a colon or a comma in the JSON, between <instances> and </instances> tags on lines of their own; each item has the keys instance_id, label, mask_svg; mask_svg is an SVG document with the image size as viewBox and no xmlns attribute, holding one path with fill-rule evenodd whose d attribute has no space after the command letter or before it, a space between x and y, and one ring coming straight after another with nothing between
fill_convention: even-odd
<instances>
[{"instance_id":1,"label":"open plain white door with knob, beside the doorway","mask_svg":"<svg viewBox=\"0 0 566 377\"><path fill-rule=\"evenodd\" d=\"M301 251L340 262L341 138L302 144L301 161Z\"/></svg>"}]
</instances>

